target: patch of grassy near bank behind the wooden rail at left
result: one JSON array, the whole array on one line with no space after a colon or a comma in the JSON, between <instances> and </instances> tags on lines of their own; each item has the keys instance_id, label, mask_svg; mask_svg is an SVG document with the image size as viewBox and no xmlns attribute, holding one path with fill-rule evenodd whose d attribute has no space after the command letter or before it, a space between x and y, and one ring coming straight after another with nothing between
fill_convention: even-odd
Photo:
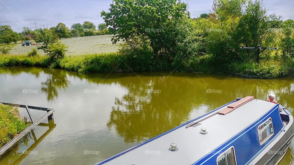
<instances>
[{"instance_id":1,"label":"patch of grassy near bank behind the wooden rail at left","mask_svg":"<svg viewBox=\"0 0 294 165\"><path fill-rule=\"evenodd\" d=\"M19 117L17 108L0 104L0 147L8 143L29 125Z\"/></svg>"}]
</instances>

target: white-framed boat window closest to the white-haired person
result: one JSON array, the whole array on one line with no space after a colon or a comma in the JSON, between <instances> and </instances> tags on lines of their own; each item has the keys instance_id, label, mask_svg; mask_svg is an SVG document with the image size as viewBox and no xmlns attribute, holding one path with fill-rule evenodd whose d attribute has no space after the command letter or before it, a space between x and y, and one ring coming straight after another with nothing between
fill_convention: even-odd
<instances>
[{"instance_id":1,"label":"white-framed boat window closest to the white-haired person","mask_svg":"<svg viewBox=\"0 0 294 165\"><path fill-rule=\"evenodd\" d=\"M272 118L269 118L258 126L260 145L263 145L271 136L273 136L273 123Z\"/></svg>"}]
</instances>

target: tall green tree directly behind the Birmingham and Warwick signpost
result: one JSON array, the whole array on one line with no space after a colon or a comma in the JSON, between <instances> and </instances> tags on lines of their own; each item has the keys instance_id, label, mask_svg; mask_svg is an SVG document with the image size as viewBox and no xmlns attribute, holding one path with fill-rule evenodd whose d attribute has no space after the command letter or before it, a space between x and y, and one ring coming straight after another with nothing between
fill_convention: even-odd
<instances>
[{"instance_id":1,"label":"tall green tree directly behind the Birmingham and Warwick signpost","mask_svg":"<svg viewBox=\"0 0 294 165\"><path fill-rule=\"evenodd\" d=\"M280 21L275 14L267 15L267 10L259 0L248 2L245 14L240 18L234 38L240 46L271 46L275 40L273 24ZM259 62L259 53L256 53Z\"/></svg>"}]
</instances>

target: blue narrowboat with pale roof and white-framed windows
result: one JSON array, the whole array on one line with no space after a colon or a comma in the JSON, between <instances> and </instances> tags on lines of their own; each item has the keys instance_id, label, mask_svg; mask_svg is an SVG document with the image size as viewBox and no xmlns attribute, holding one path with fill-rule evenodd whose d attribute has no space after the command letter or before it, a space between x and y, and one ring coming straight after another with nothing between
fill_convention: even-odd
<instances>
[{"instance_id":1,"label":"blue narrowboat with pale roof and white-framed windows","mask_svg":"<svg viewBox=\"0 0 294 165\"><path fill-rule=\"evenodd\" d=\"M282 159L293 136L285 107L247 96L97 165L271 165Z\"/></svg>"}]
</instances>

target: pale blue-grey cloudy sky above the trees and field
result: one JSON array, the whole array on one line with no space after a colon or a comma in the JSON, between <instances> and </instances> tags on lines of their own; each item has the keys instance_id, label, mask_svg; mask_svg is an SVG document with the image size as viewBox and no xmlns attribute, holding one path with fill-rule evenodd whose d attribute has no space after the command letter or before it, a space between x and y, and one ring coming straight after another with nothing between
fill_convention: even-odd
<instances>
[{"instance_id":1,"label":"pale blue-grey cloudy sky above the trees and field","mask_svg":"<svg viewBox=\"0 0 294 165\"><path fill-rule=\"evenodd\" d=\"M191 17L209 13L213 0L189 1ZM276 13L283 20L294 18L294 0L263 0L268 13ZM0 0L0 25L10 25L13 31L21 32L23 27L35 29L40 26L52 27L59 22L67 27L74 23L91 21L96 26L104 23L100 12L107 11L112 0Z\"/></svg>"}]
</instances>

